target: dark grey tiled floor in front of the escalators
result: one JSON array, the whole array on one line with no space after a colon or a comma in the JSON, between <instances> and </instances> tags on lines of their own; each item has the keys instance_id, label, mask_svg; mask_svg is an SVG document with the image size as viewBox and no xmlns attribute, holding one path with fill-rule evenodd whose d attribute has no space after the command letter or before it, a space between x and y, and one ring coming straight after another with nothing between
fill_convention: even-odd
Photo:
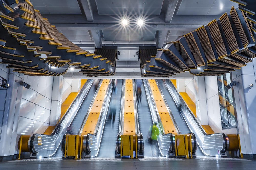
<instances>
[{"instance_id":1,"label":"dark grey tiled floor in front of the escalators","mask_svg":"<svg viewBox=\"0 0 256 170\"><path fill-rule=\"evenodd\" d=\"M256 169L256 161L245 159L91 159L89 160L74 160L74 159L28 159L22 161L8 161L0 162L0 169L61 169L61 170L73 170L73 169L110 169L110 170L129 170L129 169L189 169L189 170L217 170L217 169Z\"/></svg>"}]
</instances>

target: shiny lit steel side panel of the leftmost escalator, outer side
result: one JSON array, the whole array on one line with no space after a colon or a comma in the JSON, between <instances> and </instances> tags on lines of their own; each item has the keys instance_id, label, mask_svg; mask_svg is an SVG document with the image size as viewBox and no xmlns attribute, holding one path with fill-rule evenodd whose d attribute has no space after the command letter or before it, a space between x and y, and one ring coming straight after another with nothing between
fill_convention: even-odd
<instances>
[{"instance_id":1,"label":"shiny lit steel side panel of the leftmost escalator, outer side","mask_svg":"<svg viewBox=\"0 0 256 170\"><path fill-rule=\"evenodd\" d=\"M60 124L55 128L54 132L51 135L32 135L32 145L30 146L30 148L31 152L36 153L37 158L50 157L56 153L62 141L63 135L66 133L66 128L73 120L79 107L81 106L81 103L87 96L87 93L92 85L92 82L93 80L88 80L88 82L83 86L82 90L79 92L74 102L70 105L67 112L60 120ZM41 143L38 142L38 139L41 140Z\"/></svg>"}]
</instances>

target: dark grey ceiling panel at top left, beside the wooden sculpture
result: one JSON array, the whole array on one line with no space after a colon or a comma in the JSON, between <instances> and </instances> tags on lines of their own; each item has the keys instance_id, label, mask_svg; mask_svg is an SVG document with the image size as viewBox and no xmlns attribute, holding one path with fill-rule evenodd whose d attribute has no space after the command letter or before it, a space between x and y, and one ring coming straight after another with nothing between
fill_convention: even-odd
<instances>
[{"instance_id":1,"label":"dark grey ceiling panel at top left, beside the wooden sculpture","mask_svg":"<svg viewBox=\"0 0 256 170\"><path fill-rule=\"evenodd\" d=\"M41 14L82 14L77 0L31 0Z\"/></svg>"}]
</instances>

